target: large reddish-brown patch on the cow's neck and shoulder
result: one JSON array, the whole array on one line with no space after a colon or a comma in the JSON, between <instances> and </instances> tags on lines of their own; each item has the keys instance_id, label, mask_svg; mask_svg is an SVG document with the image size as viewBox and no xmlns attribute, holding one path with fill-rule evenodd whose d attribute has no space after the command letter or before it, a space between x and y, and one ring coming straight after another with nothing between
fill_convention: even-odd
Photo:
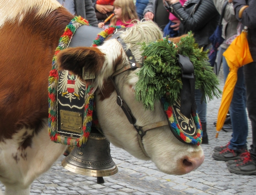
<instances>
[{"instance_id":1,"label":"large reddish-brown patch on the cow's neck and shoulder","mask_svg":"<svg viewBox=\"0 0 256 195\"><path fill-rule=\"evenodd\" d=\"M6 23L0 29L0 141L11 139L20 128L40 131L48 118L48 76L52 57L65 26L73 15L64 8L47 17L35 17L32 10L19 24ZM23 142L23 148L31 139ZM18 159L17 155L14 158Z\"/></svg>"}]
</instances>

